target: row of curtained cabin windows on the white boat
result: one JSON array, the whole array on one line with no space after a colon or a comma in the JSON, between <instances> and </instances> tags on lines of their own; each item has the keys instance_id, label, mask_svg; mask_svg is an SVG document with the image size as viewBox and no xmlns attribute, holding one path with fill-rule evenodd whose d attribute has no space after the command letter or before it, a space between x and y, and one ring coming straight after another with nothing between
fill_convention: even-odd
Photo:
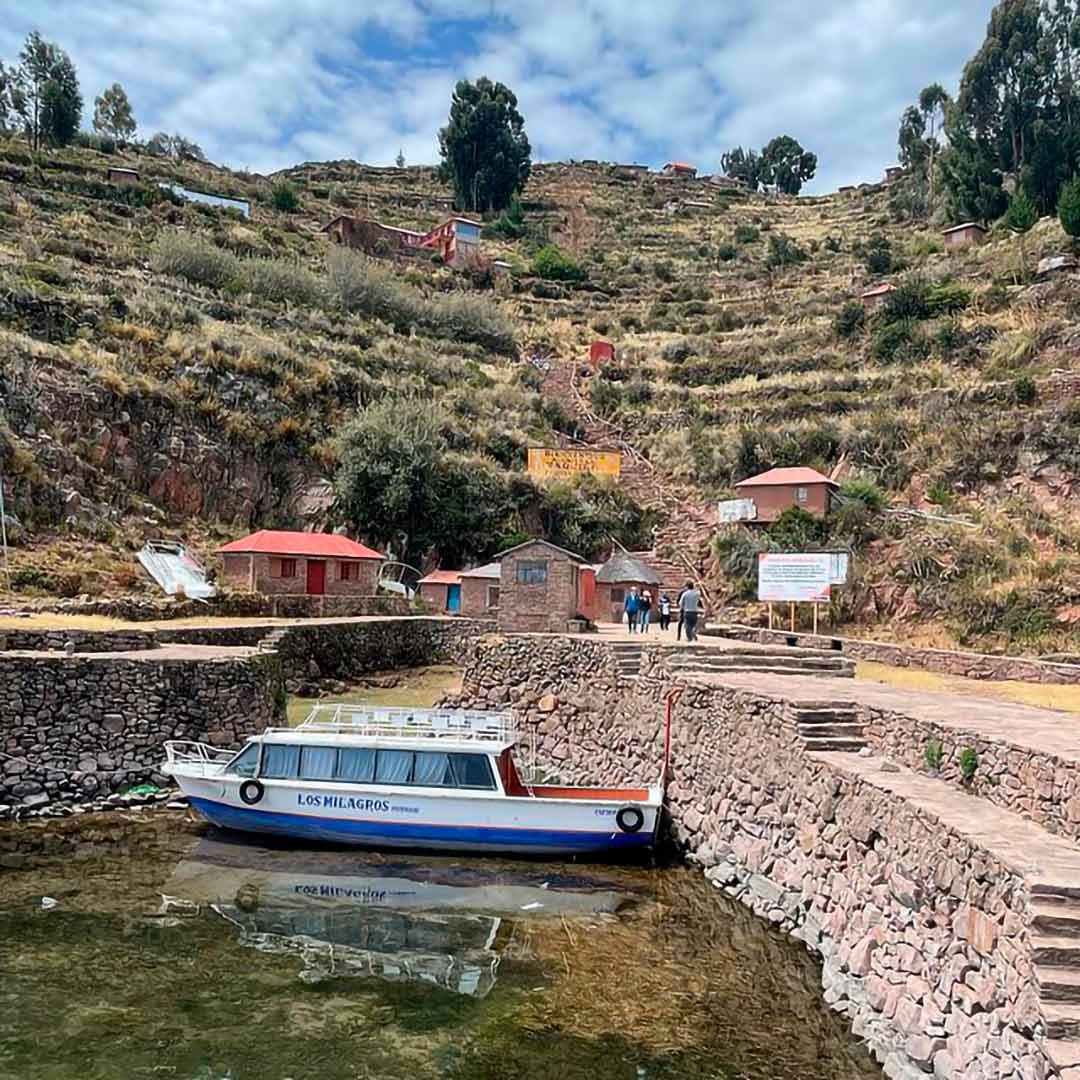
<instances>
[{"instance_id":1,"label":"row of curtained cabin windows on the white boat","mask_svg":"<svg viewBox=\"0 0 1080 1080\"><path fill-rule=\"evenodd\" d=\"M249 748L255 751L252 757L254 772L258 747ZM234 761L239 764L240 758ZM230 768L230 771L234 770ZM267 743L262 748L260 775L269 780L335 780L351 784L495 789L495 775L486 754L443 754L422 750L375 751L354 746L301 747Z\"/></svg>"}]
</instances>

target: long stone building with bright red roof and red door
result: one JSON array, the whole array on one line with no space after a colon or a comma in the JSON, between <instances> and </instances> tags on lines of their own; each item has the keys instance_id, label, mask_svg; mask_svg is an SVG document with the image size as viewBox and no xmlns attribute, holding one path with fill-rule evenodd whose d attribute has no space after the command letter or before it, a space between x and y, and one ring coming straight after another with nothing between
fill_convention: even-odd
<instances>
[{"instance_id":1,"label":"long stone building with bright red roof and red door","mask_svg":"<svg viewBox=\"0 0 1080 1080\"><path fill-rule=\"evenodd\" d=\"M382 555L332 532L261 529L218 554L233 589L269 596L374 596Z\"/></svg>"}]
</instances>

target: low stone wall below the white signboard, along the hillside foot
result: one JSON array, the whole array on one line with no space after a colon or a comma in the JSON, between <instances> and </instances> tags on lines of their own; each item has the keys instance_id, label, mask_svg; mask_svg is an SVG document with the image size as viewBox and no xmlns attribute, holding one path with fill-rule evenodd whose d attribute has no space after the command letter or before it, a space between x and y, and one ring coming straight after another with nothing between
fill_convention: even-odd
<instances>
[{"instance_id":1,"label":"low stone wall below the white signboard, along the hillside foot","mask_svg":"<svg viewBox=\"0 0 1080 1080\"><path fill-rule=\"evenodd\" d=\"M706 631L706 633L713 633ZM1080 684L1080 664L1053 663L1027 657L991 657L984 652L954 652L948 649L919 649L890 642L864 642L858 637L831 637L825 634L786 633L759 626L724 626L719 637L732 637L759 645L793 645L801 649L837 650L859 660L873 660L893 667L918 667L943 675L962 675L977 679L1016 679L1047 685ZM838 644L837 644L838 643Z\"/></svg>"}]
</instances>

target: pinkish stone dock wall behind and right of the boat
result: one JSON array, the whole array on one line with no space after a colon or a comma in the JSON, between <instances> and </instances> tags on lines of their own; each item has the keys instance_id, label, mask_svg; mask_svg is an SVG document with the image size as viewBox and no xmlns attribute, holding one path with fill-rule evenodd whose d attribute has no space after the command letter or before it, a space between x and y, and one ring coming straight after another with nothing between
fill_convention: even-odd
<instances>
[{"instance_id":1,"label":"pinkish stone dock wall behind and right of the boat","mask_svg":"<svg viewBox=\"0 0 1080 1080\"><path fill-rule=\"evenodd\" d=\"M1047 1075L1016 872L809 755L782 702L678 684L648 647L639 679L620 685L605 651L487 639L455 700L518 706L569 781L643 782L660 771L664 696L683 685L669 784L677 842L714 885L822 957L826 1000L887 1075Z\"/></svg>"}]
</instances>

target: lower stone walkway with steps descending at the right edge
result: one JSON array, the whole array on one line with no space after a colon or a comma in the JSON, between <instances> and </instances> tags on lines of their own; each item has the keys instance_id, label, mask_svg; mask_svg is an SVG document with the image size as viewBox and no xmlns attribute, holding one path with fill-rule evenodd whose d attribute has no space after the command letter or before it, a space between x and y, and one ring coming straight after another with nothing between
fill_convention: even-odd
<instances>
[{"instance_id":1,"label":"lower stone walkway with steps descending at the right edge","mask_svg":"<svg viewBox=\"0 0 1080 1080\"><path fill-rule=\"evenodd\" d=\"M931 777L907 769L883 771L882 758L814 756L932 814L1025 878L1038 897L1031 944L1047 1051L1062 1080L1080 1080L1080 848Z\"/></svg>"}]
</instances>

